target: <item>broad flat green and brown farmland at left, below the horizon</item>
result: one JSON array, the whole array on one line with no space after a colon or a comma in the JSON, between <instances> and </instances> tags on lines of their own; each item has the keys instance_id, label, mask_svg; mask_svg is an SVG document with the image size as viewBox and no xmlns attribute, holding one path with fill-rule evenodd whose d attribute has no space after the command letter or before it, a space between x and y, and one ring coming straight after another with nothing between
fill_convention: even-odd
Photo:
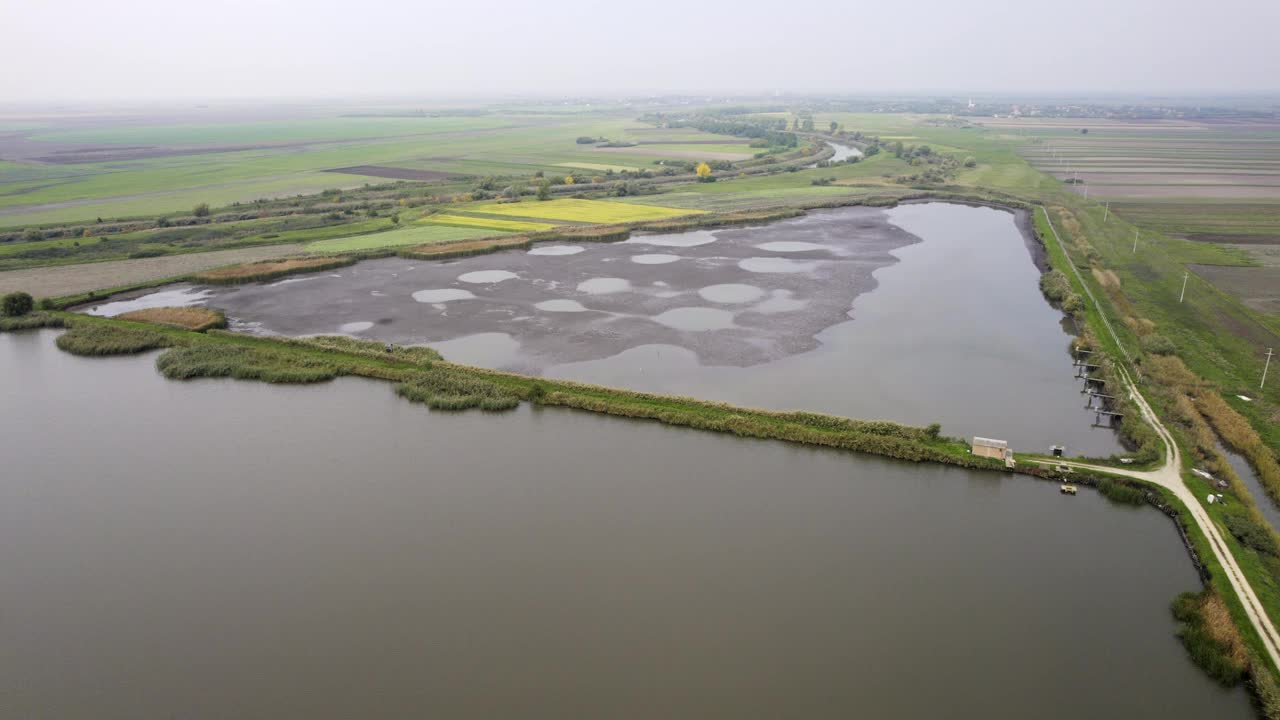
<instances>
[{"instance_id":1,"label":"broad flat green and brown farmland at left, below the horizon","mask_svg":"<svg viewBox=\"0 0 1280 720\"><path fill-rule=\"evenodd\" d=\"M710 142L684 145L687 131L643 127L631 113L55 118L0 136L0 227L182 213L397 179L431 182L447 195L484 176L590 178L755 152L742 138L698 136Z\"/></svg>"}]
</instances>

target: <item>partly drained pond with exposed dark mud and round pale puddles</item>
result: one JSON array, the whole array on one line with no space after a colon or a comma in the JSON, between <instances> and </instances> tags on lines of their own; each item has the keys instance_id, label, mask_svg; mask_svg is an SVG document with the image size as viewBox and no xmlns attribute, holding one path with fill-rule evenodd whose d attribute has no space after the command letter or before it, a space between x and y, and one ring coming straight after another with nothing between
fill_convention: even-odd
<instances>
[{"instance_id":1,"label":"partly drained pond with exposed dark mud and round pale puddles","mask_svg":"<svg viewBox=\"0 0 1280 720\"><path fill-rule=\"evenodd\" d=\"M764 227L452 261L387 259L163 302L238 329L431 343L445 357L739 405L1121 452L1096 428L1062 314L1015 215L845 208ZM186 300L184 300L186 299ZM118 313L154 296L106 304Z\"/></svg>"}]
</instances>

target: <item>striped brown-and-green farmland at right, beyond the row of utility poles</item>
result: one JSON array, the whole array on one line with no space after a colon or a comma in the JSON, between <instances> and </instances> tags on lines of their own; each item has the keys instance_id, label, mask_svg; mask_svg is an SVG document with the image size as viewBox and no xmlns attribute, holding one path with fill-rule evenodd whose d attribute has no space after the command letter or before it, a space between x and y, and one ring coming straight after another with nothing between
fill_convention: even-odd
<instances>
[{"instance_id":1,"label":"striped brown-and-green farmland at right, beyond the row of utility poles","mask_svg":"<svg viewBox=\"0 0 1280 720\"><path fill-rule=\"evenodd\" d=\"M1280 311L1280 124L983 120L1030 137L1032 165L1140 228L1213 243L1251 266L1192 265L1219 290ZM1088 132L1084 132L1088 131ZM1263 266L1252 266L1263 265Z\"/></svg>"}]
</instances>

